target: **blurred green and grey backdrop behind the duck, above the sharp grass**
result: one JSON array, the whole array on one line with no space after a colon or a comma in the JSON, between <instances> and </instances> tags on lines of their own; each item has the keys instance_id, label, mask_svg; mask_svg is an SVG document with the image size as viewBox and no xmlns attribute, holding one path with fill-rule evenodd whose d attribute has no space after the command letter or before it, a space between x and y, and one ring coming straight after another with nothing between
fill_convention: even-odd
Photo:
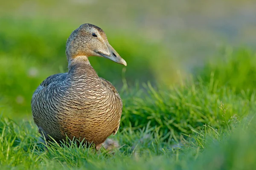
<instances>
[{"instance_id":1,"label":"blurred green and grey backdrop behind the duck, above the sharp grass","mask_svg":"<svg viewBox=\"0 0 256 170\"><path fill-rule=\"evenodd\" d=\"M65 43L83 23L101 27L126 60L123 67L90 57L119 91L124 82L169 86L190 74L208 81L212 71L219 84L254 89L255 9L253 0L1 2L0 111L32 119L33 92L49 75L67 71Z\"/></svg>"}]
</instances>

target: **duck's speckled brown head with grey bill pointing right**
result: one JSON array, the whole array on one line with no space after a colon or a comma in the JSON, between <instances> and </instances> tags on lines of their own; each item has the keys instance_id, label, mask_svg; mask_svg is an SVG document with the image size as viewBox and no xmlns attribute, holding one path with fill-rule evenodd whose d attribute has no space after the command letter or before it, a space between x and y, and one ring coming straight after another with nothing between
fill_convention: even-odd
<instances>
[{"instance_id":1,"label":"duck's speckled brown head with grey bill pointing right","mask_svg":"<svg viewBox=\"0 0 256 170\"><path fill-rule=\"evenodd\" d=\"M67 39L66 55L68 62L77 57L99 56L126 66L125 60L109 44L105 32L92 24L83 24L71 33Z\"/></svg>"}]
</instances>

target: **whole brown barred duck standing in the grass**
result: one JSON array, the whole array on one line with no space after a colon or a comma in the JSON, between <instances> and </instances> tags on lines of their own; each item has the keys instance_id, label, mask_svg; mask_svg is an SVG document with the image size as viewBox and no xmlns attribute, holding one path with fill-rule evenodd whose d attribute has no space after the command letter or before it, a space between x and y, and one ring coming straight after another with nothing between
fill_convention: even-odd
<instances>
[{"instance_id":1,"label":"whole brown barred duck standing in the grass","mask_svg":"<svg viewBox=\"0 0 256 170\"><path fill-rule=\"evenodd\" d=\"M66 42L68 72L47 77L32 95L32 116L45 141L76 139L96 150L120 126L122 99L111 82L99 77L89 57L127 65L105 32L82 24ZM102 69L103 66L102 66Z\"/></svg>"}]
</instances>

